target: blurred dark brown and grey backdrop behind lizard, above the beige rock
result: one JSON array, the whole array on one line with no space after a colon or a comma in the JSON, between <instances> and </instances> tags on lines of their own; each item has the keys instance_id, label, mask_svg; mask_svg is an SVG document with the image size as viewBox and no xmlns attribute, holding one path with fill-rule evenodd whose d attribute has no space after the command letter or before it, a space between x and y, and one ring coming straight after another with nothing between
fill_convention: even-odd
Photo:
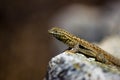
<instances>
[{"instance_id":1,"label":"blurred dark brown and grey backdrop behind lizard, above the beige rock","mask_svg":"<svg viewBox=\"0 0 120 80\"><path fill-rule=\"evenodd\" d=\"M0 0L0 80L43 80L65 49L47 30L59 26L90 42L120 34L119 0Z\"/></svg>"}]
</instances>

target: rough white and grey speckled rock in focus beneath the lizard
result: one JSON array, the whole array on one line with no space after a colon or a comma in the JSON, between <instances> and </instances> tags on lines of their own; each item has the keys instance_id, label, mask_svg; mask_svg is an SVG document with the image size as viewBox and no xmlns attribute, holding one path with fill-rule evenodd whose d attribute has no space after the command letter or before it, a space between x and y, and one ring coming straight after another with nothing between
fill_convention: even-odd
<instances>
[{"instance_id":1,"label":"rough white and grey speckled rock in focus beneath the lizard","mask_svg":"<svg viewBox=\"0 0 120 80\"><path fill-rule=\"evenodd\" d=\"M120 80L120 72L93 58L66 51L51 59L45 80Z\"/></svg>"}]
</instances>

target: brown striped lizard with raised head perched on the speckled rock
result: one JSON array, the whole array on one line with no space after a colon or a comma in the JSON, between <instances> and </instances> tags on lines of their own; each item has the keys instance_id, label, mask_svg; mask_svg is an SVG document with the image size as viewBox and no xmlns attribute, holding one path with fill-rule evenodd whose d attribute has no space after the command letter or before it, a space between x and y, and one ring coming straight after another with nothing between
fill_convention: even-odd
<instances>
[{"instance_id":1,"label":"brown striped lizard with raised head perched on the speckled rock","mask_svg":"<svg viewBox=\"0 0 120 80\"><path fill-rule=\"evenodd\" d=\"M75 52L81 52L86 56L93 57L98 62L120 67L120 59L114 57L95 44L76 37L75 35L59 27L53 27L48 30L48 32L64 44L68 45L71 49L75 48Z\"/></svg>"}]
</instances>

